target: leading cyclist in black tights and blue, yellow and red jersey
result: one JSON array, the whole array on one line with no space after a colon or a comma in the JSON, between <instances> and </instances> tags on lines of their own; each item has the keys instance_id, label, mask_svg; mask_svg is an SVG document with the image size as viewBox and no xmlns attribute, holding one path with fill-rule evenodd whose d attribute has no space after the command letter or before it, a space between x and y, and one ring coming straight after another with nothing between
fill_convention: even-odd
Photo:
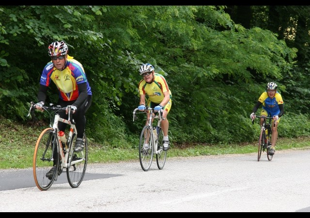
<instances>
[{"instance_id":1,"label":"leading cyclist in black tights and blue, yellow and red jersey","mask_svg":"<svg viewBox=\"0 0 310 218\"><path fill-rule=\"evenodd\" d=\"M74 109L73 119L78 132L74 151L81 152L84 148L85 112L92 103L91 87L82 64L68 55L68 46L63 41L50 44L48 55L51 57L51 61L44 67L41 75L38 91L39 102L36 104L36 109L44 110L42 106L47 98L47 88L51 82L54 82L59 90L57 104L62 108L71 106ZM59 112L64 119L68 119L67 113L68 110ZM66 124L59 122L58 127L59 130L64 131ZM52 170L55 171L53 168ZM52 172L50 174L52 175Z\"/></svg>"}]
</instances>

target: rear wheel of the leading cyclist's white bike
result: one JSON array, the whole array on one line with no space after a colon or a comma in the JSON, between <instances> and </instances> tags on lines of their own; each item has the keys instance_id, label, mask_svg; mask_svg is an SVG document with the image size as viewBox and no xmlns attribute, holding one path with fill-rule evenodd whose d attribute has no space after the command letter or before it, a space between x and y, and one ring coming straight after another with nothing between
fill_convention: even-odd
<instances>
[{"instance_id":1,"label":"rear wheel of the leading cyclist's white bike","mask_svg":"<svg viewBox=\"0 0 310 218\"><path fill-rule=\"evenodd\" d=\"M84 133L83 140L84 140L84 149L81 152L74 152L74 145L76 140L76 134L73 134L72 140L70 142L70 155L68 156L67 163L70 163L70 167L66 168L67 171L67 179L68 183L71 187L77 188L81 182L83 181L86 167L87 167L87 160L88 160L88 142L86 135ZM72 161L81 160L75 164L71 164Z\"/></svg>"}]
</instances>

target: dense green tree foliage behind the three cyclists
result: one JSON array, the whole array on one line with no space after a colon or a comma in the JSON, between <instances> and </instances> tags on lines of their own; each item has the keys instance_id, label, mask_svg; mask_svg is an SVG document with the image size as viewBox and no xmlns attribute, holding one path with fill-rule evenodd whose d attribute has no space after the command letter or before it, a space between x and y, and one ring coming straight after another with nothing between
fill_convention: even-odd
<instances>
[{"instance_id":1,"label":"dense green tree foliage behind the three cyclists","mask_svg":"<svg viewBox=\"0 0 310 218\"><path fill-rule=\"evenodd\" d=\"M279 84L285 103L279 137L309 136L310 9L242 7L0 6L2 115L29 120L47 47L64 40L91 84L86 131L102 145L137 146L145 118L133 123L132 111L145 62L169 83L172 143L255 140L259 125L249 114L269 81ZM248 16L236 16L241 9L250 9ZM51 85L47 102L57 98Z\"/></svg>"}]
</instances>

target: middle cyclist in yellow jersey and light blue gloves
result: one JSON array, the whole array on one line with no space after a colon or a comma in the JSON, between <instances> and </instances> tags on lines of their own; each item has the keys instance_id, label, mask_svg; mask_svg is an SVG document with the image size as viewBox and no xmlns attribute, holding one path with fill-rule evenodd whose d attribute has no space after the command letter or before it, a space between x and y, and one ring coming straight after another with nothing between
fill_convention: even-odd
<instances>
[{"instance_id":1,"label":"middle cyclist in yellow jersey and light blue gloves","mask_svg":"<svg viewBox=\"0 0 310 218\"><path fill-rule=\"evenodd\" d=\"M164 133L163 138L163 150L167 151L170 147L168 138L169 121L167 115L171 109L171 98L172 94L168 87L166 79L156 74L154 67L150 63L143 64L140 69L140 75L143 79L139 82L139 93L140 93L140 106L138 109L144 111L147 107L154 108L154 111L163 109L163 120L161 122L161 128ZM145 96L148 95L147 104L145 104ZM150 114L147 115L147 121L150 119ZM146 125L147 122L146 121ZM148 144L144 144L147 147Z\"/></svg>"}]
</instances>

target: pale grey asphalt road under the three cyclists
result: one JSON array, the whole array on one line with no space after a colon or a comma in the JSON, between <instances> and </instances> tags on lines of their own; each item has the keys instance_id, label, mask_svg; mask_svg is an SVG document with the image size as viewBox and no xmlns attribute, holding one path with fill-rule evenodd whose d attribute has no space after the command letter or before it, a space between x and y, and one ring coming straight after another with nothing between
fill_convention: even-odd
<instances>
[{"instance_id":1,"label":"pale grey asphalt road under the three cyclists","mask_svg":"<svg viewBox=\"0 0 310 218\"><path fill-rule=\"evenodd\" d=\"M155 159L154 159L155 160ZM32 169L0 170L0 212L310 212L310 149L88 164L72 188L62 173L47 191Z\"/></svg>"}]
</instances>

